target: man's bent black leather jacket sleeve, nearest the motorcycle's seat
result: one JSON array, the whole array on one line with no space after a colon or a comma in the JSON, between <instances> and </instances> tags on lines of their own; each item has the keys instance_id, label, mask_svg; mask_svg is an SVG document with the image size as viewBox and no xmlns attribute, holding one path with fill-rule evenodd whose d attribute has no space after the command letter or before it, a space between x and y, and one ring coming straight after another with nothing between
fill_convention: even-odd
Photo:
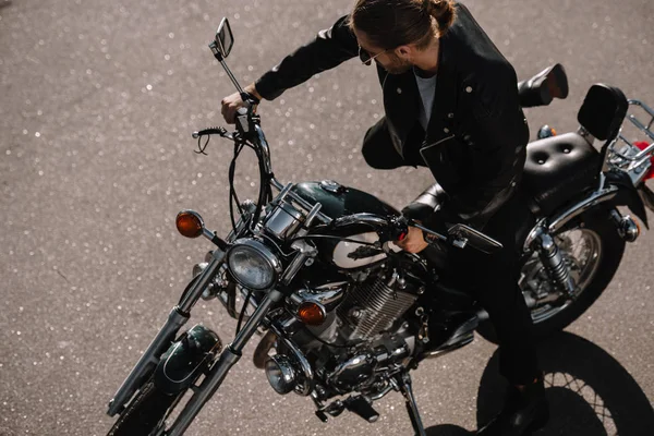
<instances>
[{"instance_id":1,"label":"man's bent black leather jacket sleeve, nearest the motorcycle's seat","mask_svg":"<svg viewBox=\"0 0 654 436\"><path fill-rule=\"evenodd\" d=\"M477 83L469 108L472 110L468 141L471 146L465 179L448 190L446 216L455 214L477 228L514 192L526 156L529 126L518 100L516 73L502 68L486 74L493 81Z\"/></svg>"}]
</instances>

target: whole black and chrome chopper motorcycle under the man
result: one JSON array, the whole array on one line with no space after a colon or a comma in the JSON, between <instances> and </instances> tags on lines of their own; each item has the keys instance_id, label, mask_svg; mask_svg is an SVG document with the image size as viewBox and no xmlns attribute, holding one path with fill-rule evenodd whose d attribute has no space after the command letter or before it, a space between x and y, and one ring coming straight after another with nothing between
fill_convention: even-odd
<instances>
[{"instance_id":1,"label":"whole black and chrome chopper motorcycle under the man","mask_svg":"<svg viewBox=\"0 0 654 436\"><path fill-rule=\"evenodd\" d=\"M203 235L216 249L195 266L179 303L110 401L108 414L119 417L109 435L182 435L255 334L261 339L254 363L265 370L271 387L280 395L310 397L322 421L348 410L375 422L374 402L399 391L415 434L425 435L411 371L423 359L470 343L475 330L491 340L494 332L487 314L457 291L456 281L439 280L437 259L404 252L393 242L415 226L437 251L491 255L501 245L461 223L436 232L335 181L281 184L272 174L254 110L257 101L226 63L232 45L223 19L209 47L246 108L240 109L234 132L211 128L193 133L201 152L206 148L201 141L208 143L210 135L233 142L232 230L221 239L197 213L178 214L181 234ZM523 106L565 98L565 71L560 65L545 70L522 82L519 92ZM646 112L649 123L628 114L631 108ZM593 304L617 270L626 242L639 237L637 221L617 206L628 206L645 226L645 206L654 210L654 194L644 183L654 177L654 111L618 88L596 84L578 120L577 132L528 146L521 195L529 219L516 250L521 254L519 284L537 337L565 328ZM646 142L622 135L626 120ZM240 203L233 179L245 147L257 156L261 183L256 202ZM238 320L231 343L223 347L216 332L199 324L182 332L199 299L219 301Z\"/></svg>"}]
</instances>

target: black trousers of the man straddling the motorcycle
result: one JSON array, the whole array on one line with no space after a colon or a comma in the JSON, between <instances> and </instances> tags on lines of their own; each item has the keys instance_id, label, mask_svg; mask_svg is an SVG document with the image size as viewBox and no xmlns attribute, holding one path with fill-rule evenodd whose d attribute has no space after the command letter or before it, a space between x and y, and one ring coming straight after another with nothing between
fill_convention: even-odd
<instances>
[{"instance_id":1,"label":"black trousers of the man straddling the motorcycle","mask_svg":"<svg viewBox=\"0 0 654 436\"><path fill-rule=\"evenodd\" d=\"M414 131L412 134L424 135L422 130ZM380 149L379 146L370 144L362 150L373 168L424 166L416 150L405 150L402 158L395 148ZM525 219L523 214L528 210L513 195L482 229L499 241L504 249L492 255L472 247L451 249L446 271L450 284L472 294L488 312L499 340L499 371L512 385L530 384L538 375L533 323L518 287L516 234L520 222Z\"/></svg>"}]
</instances>

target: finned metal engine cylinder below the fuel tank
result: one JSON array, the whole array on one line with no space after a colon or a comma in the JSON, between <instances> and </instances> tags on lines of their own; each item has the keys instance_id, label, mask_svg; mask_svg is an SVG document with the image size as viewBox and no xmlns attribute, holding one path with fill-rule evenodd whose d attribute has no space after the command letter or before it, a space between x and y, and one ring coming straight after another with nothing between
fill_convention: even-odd
<instances>
[{"instance_id":1,"label":"finned metal engine cylinder below the fuel tank","mask_svg":"<svg viewBox=\"0 0 654 436\"><path fill-rule=\"evenodd\" d=\"M387 330L409 307L417 295L396 289L382 279L364 282L348 292L338 308L339 318L350 327L348 339L371 339Z\"/></svg>"}]
</instances>

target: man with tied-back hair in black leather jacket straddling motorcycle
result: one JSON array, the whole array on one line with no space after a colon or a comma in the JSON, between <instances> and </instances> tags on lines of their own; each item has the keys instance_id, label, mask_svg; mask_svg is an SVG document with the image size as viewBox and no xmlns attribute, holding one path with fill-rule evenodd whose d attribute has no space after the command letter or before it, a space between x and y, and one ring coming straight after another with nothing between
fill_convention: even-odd
<instances>
[{"instance_id":1,"label":"man with tied-back hair in black leather jacket straddling motorcycle","mask_svg":"<svg viewBox=\"0 0 654 436\"><path fill-rule=\"evenodd\" d=\"M471 249L450 256L452 276L465 278L489 313L500 341L500 371L512 386L502 413L480 434L521 435L540 427L548 410L513 252L513 193L529 140L516 72L460 3L358 0L350 15L245 90L271 100L358 56L375 62L386 111L365 135L366 162L378 169L426 166L438 182L403 213L427 222L464 222L505 246L494 256ZM241 104L238 94L222 100L228 122ZM422 231L410 228L402 246L424 250Z\"/></svg>"}]
</instances>

